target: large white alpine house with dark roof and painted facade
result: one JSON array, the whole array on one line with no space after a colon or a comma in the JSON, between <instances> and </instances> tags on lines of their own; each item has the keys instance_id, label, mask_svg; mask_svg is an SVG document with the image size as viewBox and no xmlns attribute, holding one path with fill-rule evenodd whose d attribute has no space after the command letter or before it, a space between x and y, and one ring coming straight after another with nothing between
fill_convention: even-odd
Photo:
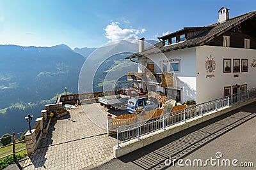
<instances>
[{"instance_id":1,"label":"large white alpine house with dark roof and painted facade","mask_svg":"<svg viewBox=\"0 0 256 170\"><path fill-rule=\"evenodd\" d=\"M147 83L148 91L157 89L182 103L194 99L199 104L256 87L256 11L234 18L227 8L218 13L216 24L184 27L159 37L154 45L158 51L140 47L142 52L126 58L138 58L139 74L148 69L154 73L157 82ZM143 45L143 39L139 41ZM166 83L163 73L168 73Z\"/></svg>"}]
</instances>

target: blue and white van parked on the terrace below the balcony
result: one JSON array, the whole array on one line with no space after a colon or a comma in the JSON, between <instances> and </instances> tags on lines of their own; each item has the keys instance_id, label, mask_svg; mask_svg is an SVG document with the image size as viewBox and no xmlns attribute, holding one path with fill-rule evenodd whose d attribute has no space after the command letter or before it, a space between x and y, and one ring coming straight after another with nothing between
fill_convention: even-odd
<instances>
[{"instance_id":1,"label":"blue and white van parked on the terrace below the balcony","mask_svg":"<svg viewBox=\"0 0 256 170\"><path fill-rule=\"evenodd\" d=\"M132 114L136 113L136 109L144 109L148 111L156 108L157 104L153 103L152 101L148 101L147 96L132 97L127 103L127 111Z\"/></svg>"}]
</instances>

